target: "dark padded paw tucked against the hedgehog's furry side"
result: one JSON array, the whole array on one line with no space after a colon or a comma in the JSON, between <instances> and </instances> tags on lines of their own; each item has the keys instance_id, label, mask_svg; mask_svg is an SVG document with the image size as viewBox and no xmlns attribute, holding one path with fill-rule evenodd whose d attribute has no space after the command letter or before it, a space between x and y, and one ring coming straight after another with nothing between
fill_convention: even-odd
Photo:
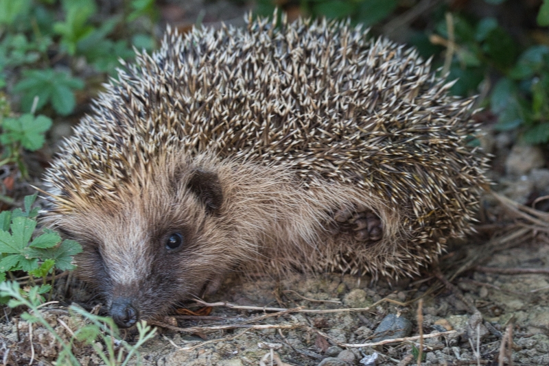
<instances>
[{"instance_id":1,"label":"dark padded paw tucked against the hedgehog's furry side","mask_svg":"<svg viewBox=\"0 0 549 366\"><path fill-rule=\"evenodd\" d=\"M344 207L334 212L338 232L352 234L358 241L379 241L383 225L379 216L369 208Z\"/></svg>"}]
</instances>

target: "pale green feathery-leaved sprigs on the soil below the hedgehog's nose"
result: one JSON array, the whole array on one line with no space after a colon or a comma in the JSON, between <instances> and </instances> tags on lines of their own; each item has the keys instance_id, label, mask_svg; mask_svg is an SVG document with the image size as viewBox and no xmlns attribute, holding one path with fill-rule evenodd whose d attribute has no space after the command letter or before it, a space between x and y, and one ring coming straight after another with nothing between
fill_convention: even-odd
<instances>
[{"instance_id":1,"label":"pale green feathery-leaved sprigs on the soil below the hedgehog's nose","mask_svg":"<svg viewBox=\"0 0 549 366\"><path fill-rule=\"evenodd\" d=\"M38 287L33 287L23 294L17 282L2 282L0 283L0 296L10 299L8 306L11 308L26 306L29 311L21 314L21 319L30 324L40 324L54 336L61 345L61 352L58 354L56 365L80 365L73 353L75 342L91 345L97 355L108 366L128 365L133 356L137 356L137 363L139 364L138 348L156 334L156 328L151 328L147 326L145 321L141 321L137 324L139 338L135 345L130 345L125 341L121 341L113 319L90 314L73 305L69 307L72 316L80 315L80 317L86 319L86 324L73 332L71 339L67 340L63 339L40 313L41 297ZM106 350L97 344L97 339L106 346Z\"/></svg>"}]
</instances>

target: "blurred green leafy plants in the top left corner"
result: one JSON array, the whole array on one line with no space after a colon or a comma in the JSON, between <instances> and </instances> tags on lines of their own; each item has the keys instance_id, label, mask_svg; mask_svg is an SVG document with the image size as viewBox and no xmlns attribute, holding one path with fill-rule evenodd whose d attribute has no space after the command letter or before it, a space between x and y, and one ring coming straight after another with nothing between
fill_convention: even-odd
<instances>
[{"instance_id":1,"label":"blurred green leafy plants in the top left corner","mask_svg":"<svg viewBox=\"0 0 549 366\"><path fill-rule=\"evenodd\" d=\"M98 16L95 0L61 0L60 5L54 0L0 0L0 88L14 85L8 93L22 94L24 112L50 103L58 114L71 114L74 91L84 88L84 80L75 76L86 70L82 61L98 73L113 75L120 58L134 56L132 45L154 45L141 33L143 24L134 25L137 19L150 19L145 24L152 29L158 16L154 1L124 1L121 14L106 19ZM63 71L57 67L60 61Z\"/></svg>"}]
</instances>

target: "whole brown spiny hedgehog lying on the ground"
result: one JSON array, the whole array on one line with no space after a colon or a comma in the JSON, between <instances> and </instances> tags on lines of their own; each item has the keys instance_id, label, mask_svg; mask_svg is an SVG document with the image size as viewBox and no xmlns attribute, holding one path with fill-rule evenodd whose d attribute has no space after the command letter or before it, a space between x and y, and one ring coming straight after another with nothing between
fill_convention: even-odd
<instances>
[{"instance_id":1,"label":"whole brown spiny hedgehog lying on the ground","mask_svg":"<svg viewBox=\"0 0 549 366\"><path fill-rule=\"evenodd\" d=\"M471 230L474 98L348 21L276 19L168 29L47 169L44 222L119 327L234 271L414 276Z\"/></svg>"}]
</instances>

